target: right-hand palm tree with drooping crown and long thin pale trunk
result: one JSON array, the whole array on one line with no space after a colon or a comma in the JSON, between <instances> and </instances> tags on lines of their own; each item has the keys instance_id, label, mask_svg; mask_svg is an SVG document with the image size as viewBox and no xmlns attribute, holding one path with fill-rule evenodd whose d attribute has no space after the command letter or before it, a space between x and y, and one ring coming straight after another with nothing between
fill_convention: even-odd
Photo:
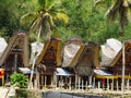
<instances>
[{"instance_id":1,"label":"right-hand palm tree with drooping crown and long thin pale trunk","mask_svg":"<svg viewBox=\"0 0 131 98\"><path fill-rule=\"evenodd\" d=\"M95 5L98 3L111 3L107 10L105 16L108 16L109 21L119 21L119 26L122 32L122 91L124 90L124 29L129 23L131 16L131 0L96 0Z\"/></svg>"}]
</instances>

